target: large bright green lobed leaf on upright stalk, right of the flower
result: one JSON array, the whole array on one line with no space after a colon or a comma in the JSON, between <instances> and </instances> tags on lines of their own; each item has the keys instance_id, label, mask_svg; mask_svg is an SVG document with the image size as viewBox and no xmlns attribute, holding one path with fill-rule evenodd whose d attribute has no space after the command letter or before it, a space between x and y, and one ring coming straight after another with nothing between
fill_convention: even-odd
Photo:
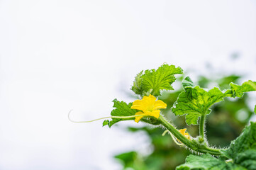
<instances>
[{"instance_id":1,"label":"large bright green lobed leaf on upright stalk, right of the flower","mask_svg":"<svg viewBox=\"0 0 256 170\"><path fill-rule=\"evenodd\" d=\"M194 86L194 83L189 77L184 79L182 85L185 91L179 94L179 98L174 103L172 112L175 115L186 115L186 123L188 125L197 125L198 118L201 115L211 113L211 109L209 108L214 103L223 101L223 98L228 95L216 87L205 91L199 86Z\"/></svg>"}]
</instances>

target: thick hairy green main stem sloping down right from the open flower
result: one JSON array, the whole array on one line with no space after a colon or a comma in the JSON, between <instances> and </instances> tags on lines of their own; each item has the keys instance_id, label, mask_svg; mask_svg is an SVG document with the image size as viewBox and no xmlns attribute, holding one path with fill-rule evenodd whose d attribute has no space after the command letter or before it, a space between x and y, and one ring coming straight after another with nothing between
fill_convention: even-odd
<instances>
[{"instance_id":1,"label":"thick hairy green main stem sloping down right from the open flower","mask_svg":"<svg viewBox=\"0 0 256 170\"><path fill-rule=\"evenodd\" d=\"M190 149L194 150L195 152L201 152L201 153L209 153L213 155L220 155L219 149L214 149L211 147L207 147L206 145L200 145L195 140L189 140L187 137L184 137L176 128L174 128L167 120L165 120L162 115L159 116L158 120L160 120L162 126L164 126L169 132L174 135L180 142L182 142L184 145L189 147Z\"/></svg>"}]
</instances>

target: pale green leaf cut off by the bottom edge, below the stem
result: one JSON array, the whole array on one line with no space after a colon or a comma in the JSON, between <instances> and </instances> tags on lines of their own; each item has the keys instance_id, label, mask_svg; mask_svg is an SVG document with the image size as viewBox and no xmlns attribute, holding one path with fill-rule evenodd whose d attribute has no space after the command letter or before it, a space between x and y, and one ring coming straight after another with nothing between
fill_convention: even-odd
<instances>
[{"instance_id":1,"label":"pale green leaf cut off by the bottom edge, below the stem","mask_svg":"<svg viewBox=\"0 0 256 170\"><path fill-rule=\"evenodd\" d=\"M242 170L242 166L232 164L231 162L226 163L222 159L211 157L211 154L203 154L201 157L193 154L189 155L186 159L186 163L177 166L176 170L189 170L189 169L200 169L200 170L221 170L221 169L239 169Z\"/></svg>"}]
</instances>

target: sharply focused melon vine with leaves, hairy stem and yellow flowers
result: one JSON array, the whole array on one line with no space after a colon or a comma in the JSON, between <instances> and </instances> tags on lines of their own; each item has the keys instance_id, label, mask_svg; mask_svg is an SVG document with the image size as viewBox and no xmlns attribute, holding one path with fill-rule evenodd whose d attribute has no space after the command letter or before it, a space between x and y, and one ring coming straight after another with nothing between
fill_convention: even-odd
<instances>
[{"instance_id":1,"label":"sharply focused melon vine with leaves, hairy stem and yellow flowers","mask_svg":"<svg viewBox=\"0 0 256 170\"><path fill-rule=\"evenodd\" d=\"M212 147L206 137L206 119L211 114L211 106L223 101L224 98L242 98L249 91L256 91L256 81L245 81L243 84L229 84L229 88L221 90L218 87L204 89L194 84L190 77L182 81L183 91L179 94L173 106L158 99L162 91L173 91L172 84L177 74L184 74L180 67L163 64L158 69L148 69L138 73L131 90L140 99L126 103L113 100L111 116L103 118L103 126L112 125L125 120L135 123L147 123L156 128L164 128L174 142L184 149L189 149L191 155L186 162L176 167L177 170L189 169L256 169L256 123L250 122L228 148ZM167 120L162 114L165 109L171 109L176 116L185 116L187 125L198 125L199 134L191 136L187 128L175 128L175 122ZM256 113L256 106L255 106ZM111 119L111 120L109 120ZM97 119L99 120L99 119ZM73 121L73 120L72 120ZM93 120L92 120L93 121ZM76 123L85 123L84 121ZM91 121L86 121L91 122ZM168 152L168 151L167 151ZM172 151L169 151L172 152Z\"/></svg>"}]
</instances>

